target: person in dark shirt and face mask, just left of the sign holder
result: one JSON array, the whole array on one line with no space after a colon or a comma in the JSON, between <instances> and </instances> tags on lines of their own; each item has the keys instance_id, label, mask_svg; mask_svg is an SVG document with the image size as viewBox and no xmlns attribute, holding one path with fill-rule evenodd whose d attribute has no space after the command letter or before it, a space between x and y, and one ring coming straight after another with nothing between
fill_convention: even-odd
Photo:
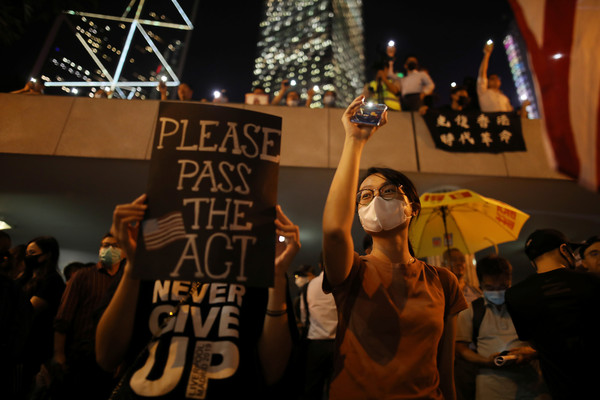
<instances>
[{"instance_id":1,"label":"person in dark shirt and face mask, just left of the sign holder","mask_svg":"<svg viewBox=\"0 0 600 400\"><path fill-rule=\"evenodd\" d=\"M79 270L67 282L54 320L55 365L65 372L62 393L66 398L108 398L111 375L96 364L94 313L123 265L117 240L104 235L95 267Z\"/></svg>"}]
</instances>

